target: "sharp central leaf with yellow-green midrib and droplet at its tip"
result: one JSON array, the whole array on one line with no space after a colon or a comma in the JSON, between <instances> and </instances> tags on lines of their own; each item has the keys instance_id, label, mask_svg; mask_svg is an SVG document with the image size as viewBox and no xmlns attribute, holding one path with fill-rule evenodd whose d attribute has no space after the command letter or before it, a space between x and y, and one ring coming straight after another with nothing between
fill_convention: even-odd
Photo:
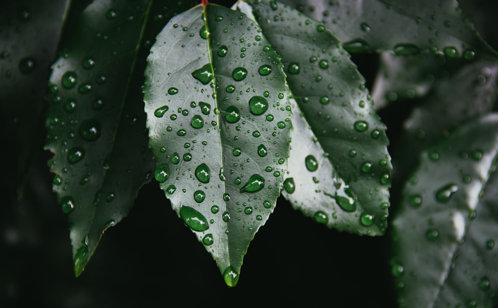
<instances>
[{"instance_id":1,"label":"sharp central leaf with yellow-green midrib and droplet at its tip","mask_svg":"<svg viewBox=\"0 0 498 308\"><path fill-rule=\"evenodd\" d=\"M235 286L287 169L282 64L245 14L209 4L166 25L145 74L155 179Z\"/></svg>"}]
</instances>

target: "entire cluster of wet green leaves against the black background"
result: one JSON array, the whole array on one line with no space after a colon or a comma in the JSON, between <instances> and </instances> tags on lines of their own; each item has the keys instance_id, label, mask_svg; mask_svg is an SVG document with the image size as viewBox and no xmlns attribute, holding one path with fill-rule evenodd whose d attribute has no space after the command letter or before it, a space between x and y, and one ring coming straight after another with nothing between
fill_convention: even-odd
<instances>
[{"instance_id":1,"label":"entire cluster of wet green leaves against the black background","mask_svg":"<svg viewBox=\"0 0 498 308\"><path fill-rule=\"evenodd\" d=\"M456 1L24 4L1 16L2 113L19 175L38 140L54 154L76 276L157 181L228 286L282 194L389 232L400 306L496 303L498 54ZM9 40L28 23L43 35ZM379 55L370 87L360 53ZM377 112L409 103L389 145Z\"/></svg>"}]
</instances>

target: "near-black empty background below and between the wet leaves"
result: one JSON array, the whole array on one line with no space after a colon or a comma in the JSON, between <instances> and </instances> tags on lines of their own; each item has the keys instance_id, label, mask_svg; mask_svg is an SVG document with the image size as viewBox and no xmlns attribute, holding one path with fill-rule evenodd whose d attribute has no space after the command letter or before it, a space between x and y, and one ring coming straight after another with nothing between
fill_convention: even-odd
<instances>
[{"instance_id":1,"label":"near-black empty background below and between the wet leaves","mask_svg":"<svg viewBox=\"0 0 498 308\"><path fill-rule=\"evenodd\" d=\"M493 2L467 0L461 6L496 49ZM376 56L353 61L371 85ZM391 140L407 108L380 112ZM7 147L2 153L8 182L15 171ZM75 278L66 215L46 166L50 154L38 154L26 177L25 198L18 201L12 185L1 192L2 308L396 307L388 233L362 237L331 230L280 198L249 246L238 286L228 288L156 182L142 188L128 217L106 231L84 273ZM398 197L392 196L393 206Z\"/></svg>"}]
</instances>

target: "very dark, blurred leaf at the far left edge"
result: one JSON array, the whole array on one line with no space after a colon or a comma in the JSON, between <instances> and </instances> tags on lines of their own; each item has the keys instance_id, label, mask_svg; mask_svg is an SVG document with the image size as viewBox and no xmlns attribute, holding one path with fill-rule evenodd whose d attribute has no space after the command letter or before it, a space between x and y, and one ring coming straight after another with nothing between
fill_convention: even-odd
<instances>
[{"instance_id":1,"label":"very dark, blurred leaf at the far left edge","mask_svg":"<svg viewBox=\"0 0 498 308\"><path fill-rule=\"evenodd\" d=\"M43 81L50 75L67 2L4 0L1 4L1 140L10 151L6 172L15 175L9 176L11 186L6 191L18 188L43 145L44 131L38 129L45 111Z\"/></svg>"}]
</instances>

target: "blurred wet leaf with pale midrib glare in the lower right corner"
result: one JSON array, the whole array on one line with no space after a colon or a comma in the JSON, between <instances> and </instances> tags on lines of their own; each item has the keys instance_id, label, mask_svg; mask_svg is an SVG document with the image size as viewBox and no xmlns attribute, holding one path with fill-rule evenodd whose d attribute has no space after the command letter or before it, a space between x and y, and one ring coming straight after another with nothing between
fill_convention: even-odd
<instances>
[{"instance_id":1,"label":"blurred wet leaf with pale midrib glare in the lower right corner","mask_svg":"<svg viewBox=\"0 0 498 308\"><path fill-rule=\"evenodd\" d=\"M486 228L496 219L496 206L490 205L490 199L479 203L495 169L497 151L498 114L491 113L452 130L420 156L393 214L391 264L401 307L446 307L455 300L484 298L489 303L491 293L463 287L474 282L479 286L475 280L482 277L474 277L477 271L481 275L486 267L493 275L498 265L484 246L497 236L495 227ZM493 198L495 187L489 190ZM480 216L486 212L495 216ZM470 259L462 264L461 256ZM481 263L483 258L491 264ZM476 268L466 272L472 264ZM496 288L496 276L489 278Z\"/></svg>"}]
</instances>

